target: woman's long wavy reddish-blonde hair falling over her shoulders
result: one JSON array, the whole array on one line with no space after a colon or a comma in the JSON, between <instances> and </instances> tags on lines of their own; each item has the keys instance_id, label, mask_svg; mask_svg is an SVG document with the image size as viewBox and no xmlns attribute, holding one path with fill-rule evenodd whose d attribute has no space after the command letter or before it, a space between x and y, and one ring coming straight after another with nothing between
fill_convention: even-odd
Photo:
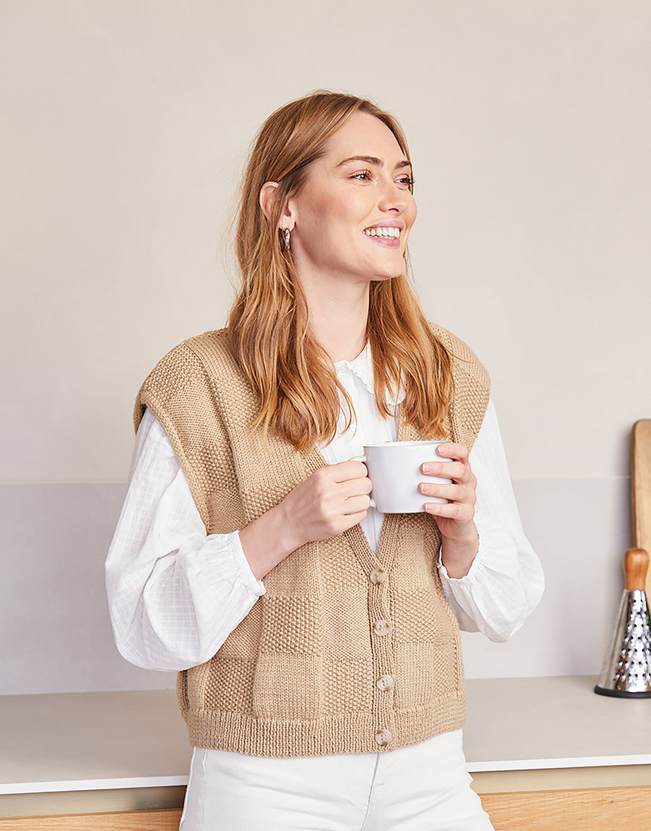
<instances>
[{"instance_id":1,"label":"woman's long wavy reddish-blonde hair falling over her shoulders","mask_svg":"<svg viewBox=\"0 0 651 831\"><path fill-rule=\"evenodd\" d=\"M229 314L230 344L259 396L255 426L265 435L273 430L297 450L333 439L339 393L348 405L348 425L353 405L333 362L308 330L307 303L279 219L285 200L303 187L309 165L357 111L387 125L409 159L402 128L372 101L318 91L290 101L264 122L242 184L235 241L242 283ZM279 183L269 218L259 204L268 181ZM451 359L404 275L371 283L367 340L382 416L391 415L387 394L402 383L402 419L425 435L442 437L452 395Z\"/></svg>"}]
</instances>

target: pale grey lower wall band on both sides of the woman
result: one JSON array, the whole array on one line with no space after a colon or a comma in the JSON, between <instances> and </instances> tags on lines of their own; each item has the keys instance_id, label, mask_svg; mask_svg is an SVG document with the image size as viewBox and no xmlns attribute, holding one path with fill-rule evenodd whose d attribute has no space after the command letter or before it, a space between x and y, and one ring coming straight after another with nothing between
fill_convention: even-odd
<instances>
[{"instance_id":1,"label":"pale grey lower wall band on both sides of the woman","mask_svg":"<svg viewBox=\"0 0 651 831\"><path fill-rule=\"evenodd\" d=\"M628 489L628 479L515 483L545 597L507 643L464 634L466 676L599 672L623 586ZM122 484L0 486L0 694L174 686L174 673L131 666L113 643L104 558L124 493Z\"/></svg>"}]
</instances>

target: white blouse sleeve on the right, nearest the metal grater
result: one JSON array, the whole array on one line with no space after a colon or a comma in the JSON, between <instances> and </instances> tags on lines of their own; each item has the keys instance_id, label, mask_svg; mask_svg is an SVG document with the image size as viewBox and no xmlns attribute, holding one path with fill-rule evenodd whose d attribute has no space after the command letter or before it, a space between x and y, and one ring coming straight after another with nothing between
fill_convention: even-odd
<instances>
[{"instance_id":1,"label":"white blouse sleeve on the right, nearest the metal grater","mask_svg":"<svg viewBox=\"0 0 651 831\"><path fill-rule=\"evenodd\" d=\"M470 465L477 479L479 552L465 577L449 577L440 557L439 573L461 629L501 642L517 632L534 610L545 578L522 529L492 401L472 447Z\"/></svg>"}]
</instances>

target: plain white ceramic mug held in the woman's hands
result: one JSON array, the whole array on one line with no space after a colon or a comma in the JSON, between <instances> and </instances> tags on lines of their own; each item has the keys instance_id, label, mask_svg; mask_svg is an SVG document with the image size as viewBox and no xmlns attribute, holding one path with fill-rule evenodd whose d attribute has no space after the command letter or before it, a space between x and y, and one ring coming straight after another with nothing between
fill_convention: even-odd
<instances>
[{"instance_id":1,"label":"plain white ceramic mug held in the woman's hands","mask_svg":"<svg viewBox=\"0 0 651 831\"><path fill-rule=\"evenodd\" d=\"M449 462L436 453L446 441L385 441L383 445L364 445L364 455L355 456L367 466L373 483L371 505L382 514L420 514L426 502L447 502L426 496L418 490L421 482L451 484L451 479L422 473L423 462Z\"/></svg>"}]
</instances>

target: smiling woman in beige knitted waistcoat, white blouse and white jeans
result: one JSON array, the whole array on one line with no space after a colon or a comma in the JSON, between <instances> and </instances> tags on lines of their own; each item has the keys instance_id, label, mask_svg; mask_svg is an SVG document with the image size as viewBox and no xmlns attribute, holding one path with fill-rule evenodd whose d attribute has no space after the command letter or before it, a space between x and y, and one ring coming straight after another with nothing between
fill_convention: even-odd
<instances>
[{"instance_id":1,"label":"smiling woman in beige knitted waistcoat, white blouse and white jeans","mask_svg":"<svg viewBox=\"0 0 651 831\"><path fill-rule=\"evenodd\" d=\"M229 325L138 394L107 587L121 654L180 673L184 831L491 828L461 750L459 624L505 640L543 581L486 371L403 276L412 184L370 101L269 116ZM371 509L362 446L433 437L423 513Z\"/></svg>"}]
</instances>

